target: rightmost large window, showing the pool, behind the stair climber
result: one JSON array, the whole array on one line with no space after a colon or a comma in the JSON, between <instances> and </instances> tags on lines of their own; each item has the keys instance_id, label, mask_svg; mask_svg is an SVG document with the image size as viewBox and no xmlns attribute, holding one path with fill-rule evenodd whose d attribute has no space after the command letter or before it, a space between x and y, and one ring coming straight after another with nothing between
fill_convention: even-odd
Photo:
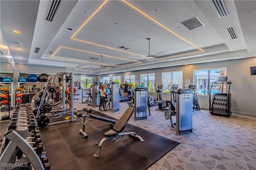
<instances>
[{"instance_id":1,"label":"rightmost large window, showing the pool, behind the stair climber","mask_svg":"<svg viewBox=\"0 0 256 170\"><path fill-rule=\"evenodd\" d=\"M194 70L194 84L199 95L208 95L208 89L211 88L212 82L218 80L218 77L226 76L226 67L211 68L204 70ZM213 84L211 94L222 91L221 84ZM226 84L223 86L223 92L226 92Z\"/></svg>"}]
</instances>

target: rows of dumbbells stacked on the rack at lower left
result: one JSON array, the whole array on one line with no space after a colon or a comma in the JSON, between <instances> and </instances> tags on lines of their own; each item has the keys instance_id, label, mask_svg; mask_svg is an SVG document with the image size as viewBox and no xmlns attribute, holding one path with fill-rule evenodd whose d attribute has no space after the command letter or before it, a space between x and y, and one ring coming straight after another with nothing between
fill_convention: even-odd
<instances>
[{"instance_id":1,"label":"rows of dumbbells stacked on the rack at lower left","mask_svg":"<svg viewBox=\"0 0 256 170\"><path fill-rule=\"evenodd\" d=\"M17 129L20 131L28 131L30 137L27 137L25 140L30 144L41 159L44 169L50 170L47 153L41 139L39 127L37 126L36 117L34 113L32 113L31 104L17 103L14 113L10 118L11 120L8 130ZM20 159L23 156L23 152L17 148L15 155L17 159Z\"/></svg>"}]
</instances>

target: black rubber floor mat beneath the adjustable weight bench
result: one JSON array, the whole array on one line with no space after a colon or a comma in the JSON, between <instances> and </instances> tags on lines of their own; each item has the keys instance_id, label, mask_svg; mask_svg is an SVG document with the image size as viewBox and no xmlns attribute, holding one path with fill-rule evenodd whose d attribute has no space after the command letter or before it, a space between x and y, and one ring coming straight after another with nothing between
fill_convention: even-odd
<instances>
[{"instance_id":1,"label":"black rubber floor mat beneath the adjustable weight bench","mask_svg":"<svg viewBox=\"0 0 256 170\"><path fill-rule=\"evenodd\" d=\"M83 110L79 110L84 114ZM97 111L93 114L114 119ZM116 119L115 119L116 120ZM86 133L82 138L78 133L82 129L82 118L77 121L54 125L41 129L51 170L144 170L152 166L162 156L180 143L172 141L140 127L128 124L125 131L134 131L144 142L127 135L119 142L106 141L100 157L93 155L98 150L95 143L100 143L104 133L111 129L108 122L86 117Z\"/></svg>"}]
</instances>

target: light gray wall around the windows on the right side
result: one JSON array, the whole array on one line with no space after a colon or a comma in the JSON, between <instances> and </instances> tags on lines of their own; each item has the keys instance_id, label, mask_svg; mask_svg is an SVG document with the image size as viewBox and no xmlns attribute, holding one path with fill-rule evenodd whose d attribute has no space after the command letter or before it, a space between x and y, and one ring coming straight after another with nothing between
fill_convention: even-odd
<instances>
[{"instance_id":1,"label":"light gray wall around the windows on the right side","mask_svg":"<svg viewBox=\"0 0 256 170\"><path fill-rule=\"evenodd\" d=\"M251 76L250 66L256 66L256 57L105 74L98 76L98 79L101 80L103 76L110 76L110 79L112 79L112 76L121 75L121 80L124 82L124 75L135 74L136 76L140 76L143 73L155 73L156 84L161 84L162 72L183 70L183 87L185 87L186 79L190 79L190 84L192 84L194 69L226 67L228 80L232 82L230 87L230 93L232 94L232 113L256 117L256 76ZM140 78L136 78L136 80L140 80ZM152 95L156 98L156 93L152 93ZM170 100L170 94L162 93L162 99ZM198 100L200 107L208 109L208 96L199 96Z\"/></svg>"}]
</instances>

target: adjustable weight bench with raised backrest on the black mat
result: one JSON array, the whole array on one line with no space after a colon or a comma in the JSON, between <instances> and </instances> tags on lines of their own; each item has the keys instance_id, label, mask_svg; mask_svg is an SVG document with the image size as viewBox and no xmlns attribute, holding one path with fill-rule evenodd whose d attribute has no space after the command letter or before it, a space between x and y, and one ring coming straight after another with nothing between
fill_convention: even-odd
<instances>
[{"instance_id":1,"label":"adjustable weight bench with raised backrest on the black mat","mask_svg":"<svg viewBox=\"0 0 256 170\"><path fill-rule=\"evenodd\" d=\"M112 129L109 130L108 132L104 133L105 137L100 141L100 144L95 143L95 145L97 145L99 147L99 150L96 151L96 153L94 154L94 157L100 156L100 150L103 149L102 145L105 141L107 141L107 140L115 141L114 138L118 137L118 136L120 136L120 138L118 139L118 141L116 141L116 143L119 143L122 140L122 138L124 137L124 135L134 137L135 139L138 139L140 142L144 141L142 139L142 137L138 136L135 132L124 132L124 129L129 121L129 119L132 117L132 114L134 113L134 110L135 109L133 107L129 107L124 112L122 117L120 117L120 119L114 124Z\"/></svg>"}]
</instances>

